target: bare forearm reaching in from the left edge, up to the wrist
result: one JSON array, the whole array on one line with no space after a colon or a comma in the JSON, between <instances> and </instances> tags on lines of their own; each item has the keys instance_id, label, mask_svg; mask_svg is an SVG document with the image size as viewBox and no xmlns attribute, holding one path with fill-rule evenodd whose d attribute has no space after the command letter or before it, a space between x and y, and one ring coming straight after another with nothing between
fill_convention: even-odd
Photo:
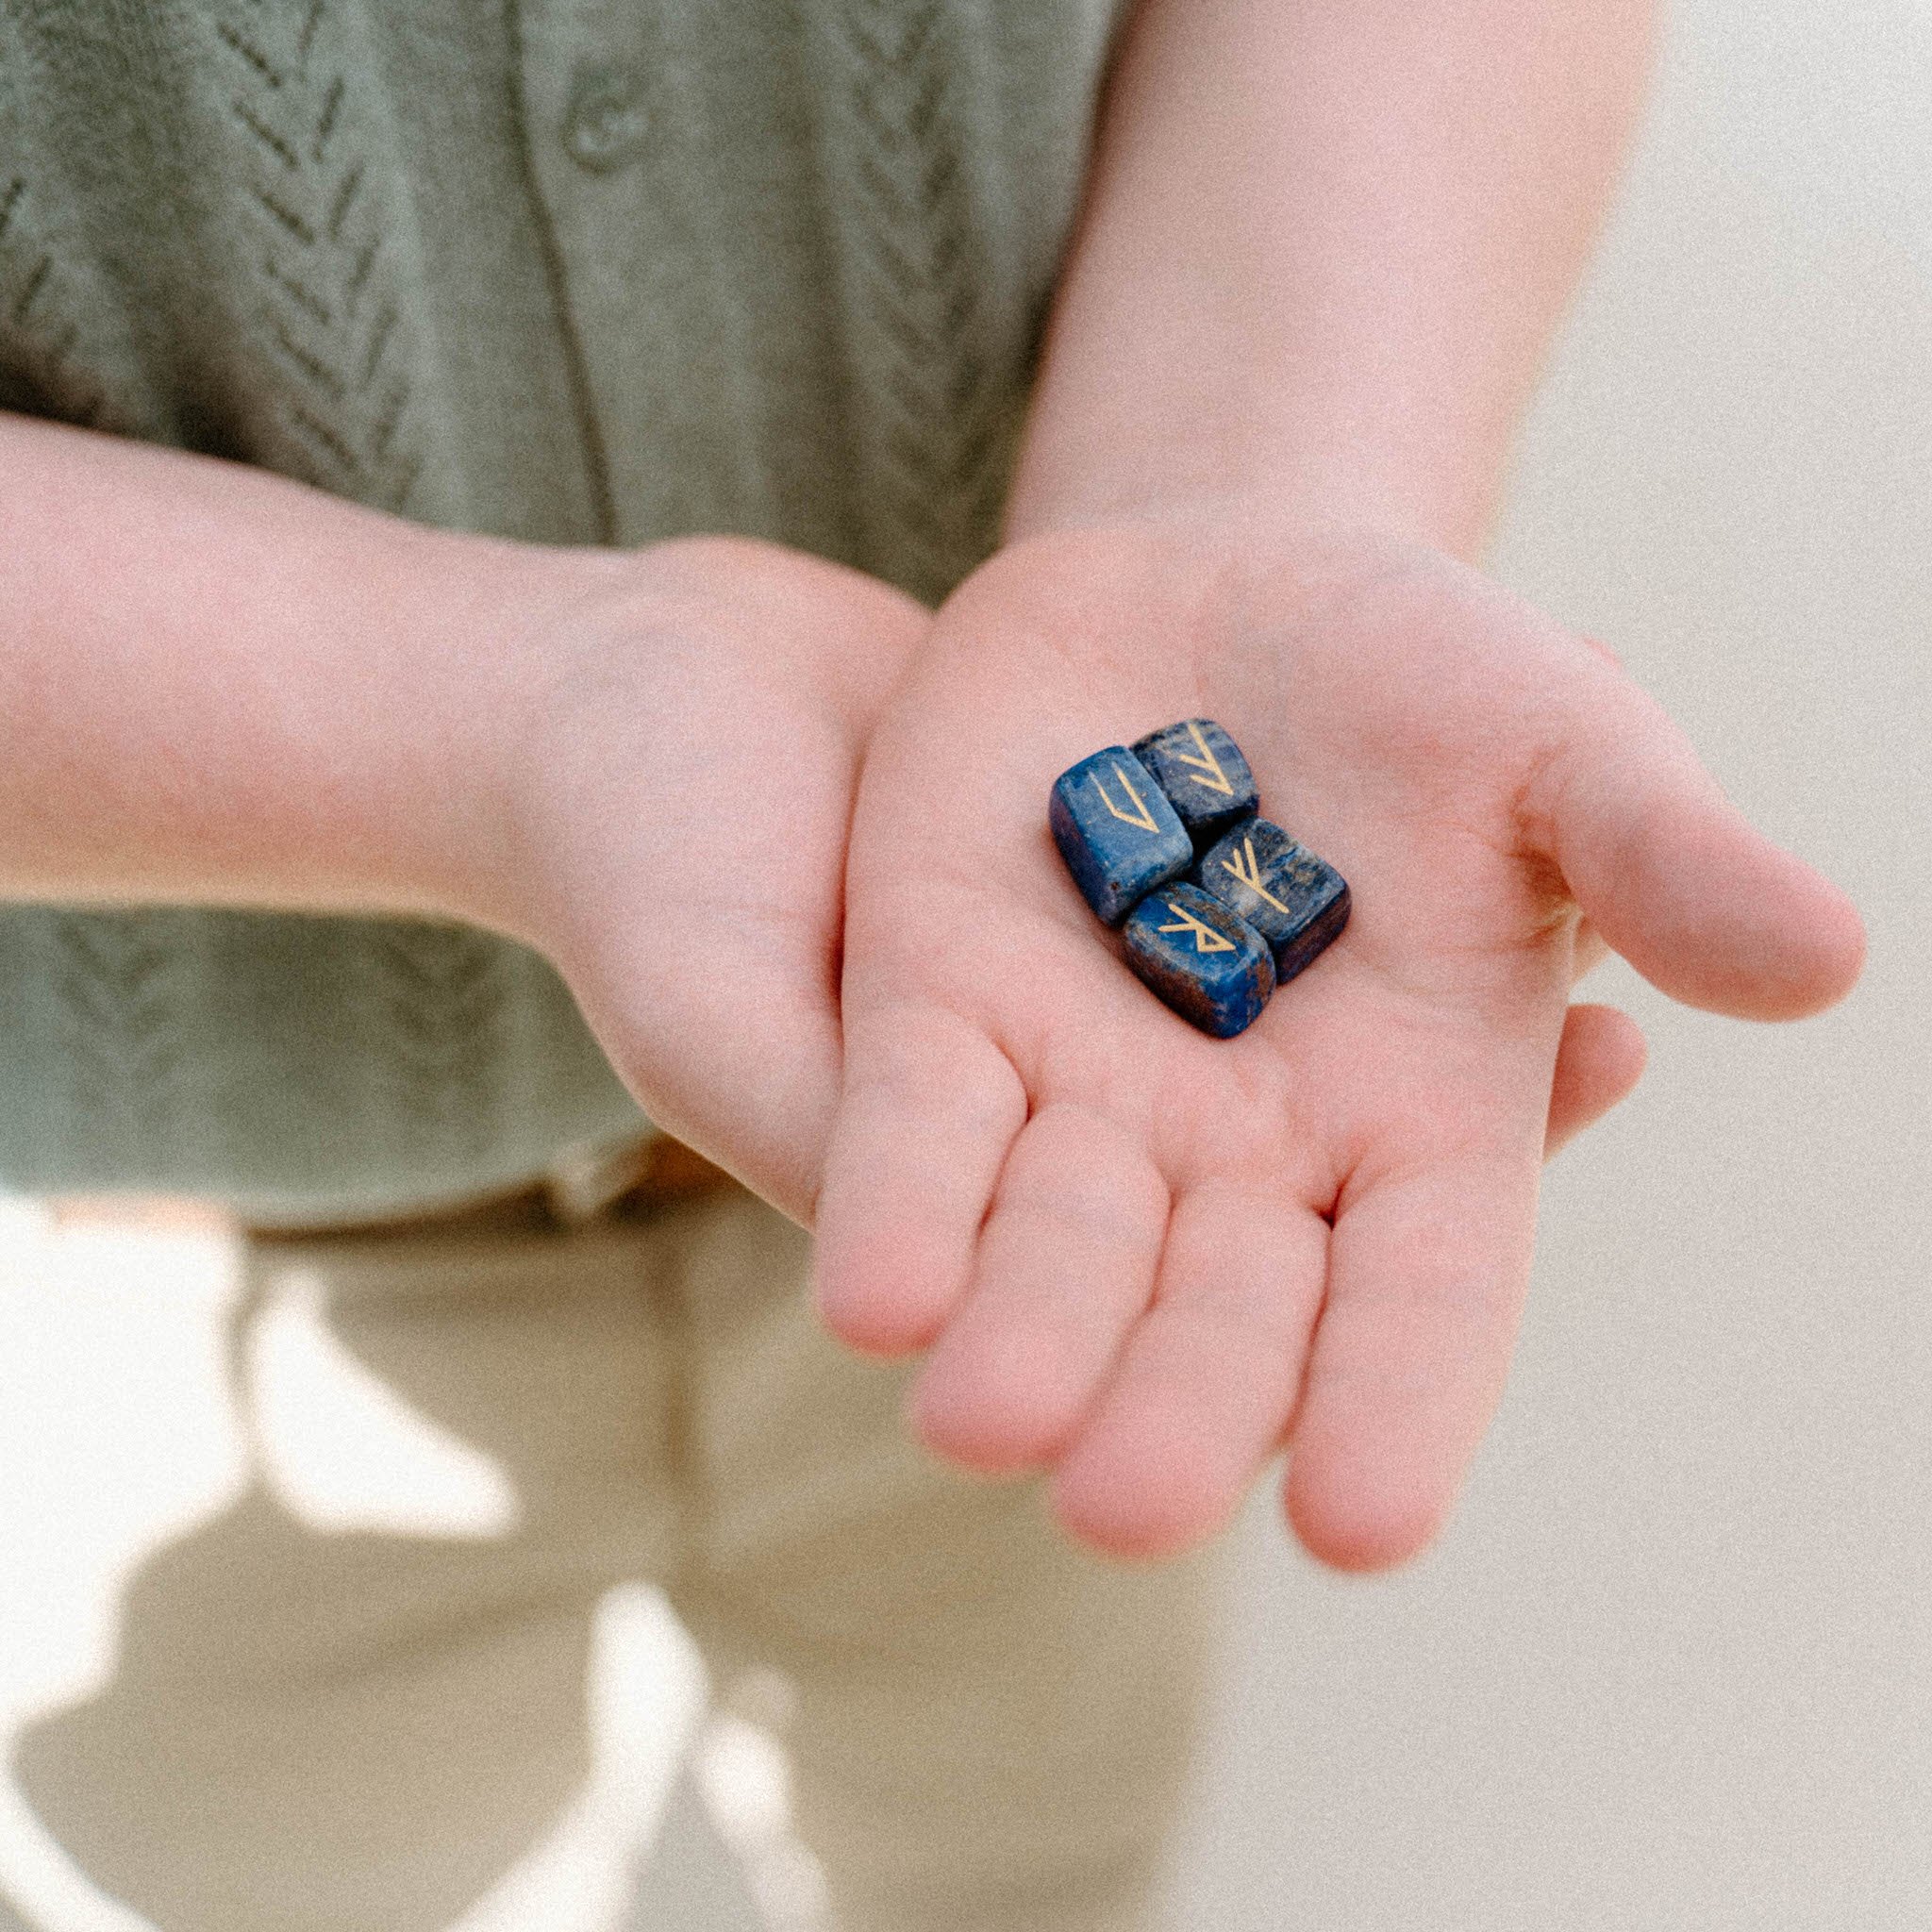
<instances>
[{"instance_id":1,"label":"bare forearm reaching in from the left edge, up to the wrist","mask_svg":"<svg viewBox=\"0 0 1932 1932\"><path fill-rule=\"evenodd\" d=\"M456 912L508 549L0 415L0 898Z\"/></svg>"}]
</instances>

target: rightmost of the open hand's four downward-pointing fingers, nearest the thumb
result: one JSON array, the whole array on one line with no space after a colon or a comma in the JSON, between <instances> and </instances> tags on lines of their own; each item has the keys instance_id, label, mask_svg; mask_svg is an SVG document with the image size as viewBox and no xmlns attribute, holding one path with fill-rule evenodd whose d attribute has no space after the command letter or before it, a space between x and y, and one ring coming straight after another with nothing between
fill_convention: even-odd
<instances>
[{"instance_id":1,"label":"rightmost of the open hand's four downward-pointing fingers, nearest the thumb","mask_svg":"<svg viewBox=\"0 0 1932 1932\"><path fill-rule=\"evenodd\" d=\"M1447 1519L1509 1366L1536 1173L1478 1148L1345 1200L1287 1482L1323 1563L1385 1569Z\"/></svg>"}]
</instances>

